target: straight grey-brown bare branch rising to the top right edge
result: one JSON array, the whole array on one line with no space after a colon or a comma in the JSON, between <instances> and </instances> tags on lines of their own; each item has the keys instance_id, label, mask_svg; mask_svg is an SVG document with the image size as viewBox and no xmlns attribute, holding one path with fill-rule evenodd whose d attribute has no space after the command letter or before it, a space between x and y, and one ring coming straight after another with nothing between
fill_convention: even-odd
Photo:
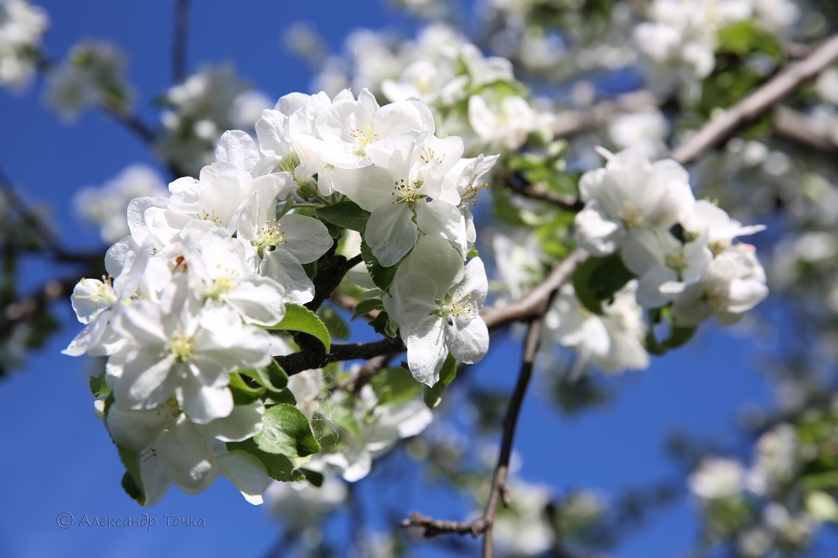
<instances>
[{"instance_id":1,"label":"straight grey-brown bare branch rising to the top right edge","mask_svg":"<svg viewBox=\"0 0 838 558\"><path fill-rule=\"evenodd\" d=\"M695 161L702 153L732 136L739 126L777 105L800 84L820 74L835 60L838 60L838 35L833 35L815 47L800 62L790 64L753 93L727 109L722 116L707 122L694 136L678 146L670 157L682 165Z\"/></svg>"}]
</instances>

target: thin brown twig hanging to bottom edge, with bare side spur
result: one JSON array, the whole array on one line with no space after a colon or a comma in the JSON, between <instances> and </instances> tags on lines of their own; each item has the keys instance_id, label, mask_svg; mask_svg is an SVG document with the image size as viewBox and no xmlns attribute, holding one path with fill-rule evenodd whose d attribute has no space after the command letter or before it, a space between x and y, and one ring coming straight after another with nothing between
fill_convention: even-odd
<instances>
[{"instance_id":1,"label":"thin brown twig hanging to bottom edge, with bare side spur","mask_svg":"<svg viewBox=\"0 0 838 558\"><path fill-rule=\"evenodd\" d=\"M545 306L547 304L549 304L549 299L545 301ZM535 317L530 322L530 328L527 330L524 341L524 354L521 359L518 382L515 384L515 392L512 393L510 404L506 407L498 465L494 469L492 488L489 492L489 499L486 502L483 515L473 521L461 522L434 520L422 514L411 514L408 519L402 520L402 527L420 527L424 529L424 535L426 537L442 535L444 533L458 533L459 535L470 533L474 537L483 534L483 557L492 558L494 555L494 518L498 513L498 506L501 502L506 506L509 505L509 489L506 486L506 479L509 474L512 443L515 438L515 426L518 422L521 403L524 402L526 387L530 382L530 376L532 376L532 368L535 364L535 356L538 353L540 341L541 317Z\"/></svg>"}]
</instances>

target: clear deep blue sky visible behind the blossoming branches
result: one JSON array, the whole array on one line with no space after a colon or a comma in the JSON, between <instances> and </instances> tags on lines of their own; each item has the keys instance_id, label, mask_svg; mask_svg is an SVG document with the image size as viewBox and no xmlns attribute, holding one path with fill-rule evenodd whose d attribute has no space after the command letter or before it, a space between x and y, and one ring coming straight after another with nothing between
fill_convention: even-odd
<instances>
[{"instance_id":1,"label":"clear deep blue sky visible behind the blossoming branches","mask_svg":"<svg viewBox=\"0 0 838 558\"><path fill-rule=\"evenodd\" d=\"M409 28L400 14L380 3L193 4L189 69L197 69L201 61L230 60L240 75L274 97L308 90L308 69L289 59L280 46L279 33L293 21L316 22L332 50L351 28ZM54 59L86 37L113 41L127 52L137 111L153 120L152 100L170 84L172 0L52 0L41 5L52 21L46 48ZM0 134L0 167L29 201L49 212L49 222L68 246L96 247L96 231L80 225L68 209L73 192L101 184L133 162L152 159L134 136L99 112L85 113L73 125L60 124L41 102L39 85L20 98L0 91L0 127L6 132ZM24 284L37 285L49 272L48 265L30 262ZM59 354L79 325L69 305L56 305L56 314L66 327L28 358L25 369L0 381L0 421L6 426L0 459L0 556L109 556L116 545L127 558L155 552L264 554L276 537L275 525L224 481L197 496L172 489L152 509L138 507L123 493L122 466L92 414L90 363ZM504 341L493 351L473 371L473 381L511 387L520 344ZM663 438L675 428L723 443L741 442L737 409L742 402L770 400L753 368L756 354L747 337L704 325L690 346L655 359L648 371L609 380L618 393L610 406L571 418L561 417L540 396L536 378L516 440L525 456L520 475L551 484L557 492L587 486L609 494L676 474L662 450ZM370 509L376 506L376 490L361 487ZM452 519L467 511L433 494L412 494L409 501L389 505ZM697 530L690 505L681 499L657 514L651 527L627 540L618 555L683 554ZM147 514L158 522L151 530L85 525L62 530L56 525L61 512L73 514L76 524L85 515L92 520ZM164 515L204 518L206 527L166 527Z\"/></svg>"}]
</instances>

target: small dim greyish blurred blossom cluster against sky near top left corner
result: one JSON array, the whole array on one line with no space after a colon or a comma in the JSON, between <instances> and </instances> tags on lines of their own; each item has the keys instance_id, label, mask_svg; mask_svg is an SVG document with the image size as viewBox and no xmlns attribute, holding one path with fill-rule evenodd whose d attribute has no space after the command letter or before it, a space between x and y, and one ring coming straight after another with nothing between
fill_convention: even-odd
<instances>
[{"instance_id":1,"label":"small dim greyish blurred blossom cluster against sky near top left corner","mask_svg":"<svg viewBox=\"0 0 838 558\"><path fill-rule=\"evenodd\" d=\"M125 60L112 44L76 44L64 64L49 69L46 101L59 115L72 119L99 103L127 104Z\"/></svg>"}]
</instances>

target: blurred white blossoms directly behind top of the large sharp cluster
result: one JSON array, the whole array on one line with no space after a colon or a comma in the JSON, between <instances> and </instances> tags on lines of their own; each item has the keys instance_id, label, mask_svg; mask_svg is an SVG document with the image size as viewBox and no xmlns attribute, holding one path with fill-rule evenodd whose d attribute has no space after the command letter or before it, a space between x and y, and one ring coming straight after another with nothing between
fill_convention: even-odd
<instances>
[{"instance_id":1,"label":"blurred white blossoms directly behind top of the large sharp cluster","mask_svg":"<svg viewBox=\"0 0 838 558\"><path fill-rule=\"evenodd\" d=\"M330 59L318 86L375 84L391 102L421 99L437 115L437 131L462 137L468 154L514 151L530 133L549 133L551 115L530 103L510 61L484 56L445 24L434 23L398 46L362 30L349 38L347 50L351 62Z\"/></svg>"}]
</instances>

